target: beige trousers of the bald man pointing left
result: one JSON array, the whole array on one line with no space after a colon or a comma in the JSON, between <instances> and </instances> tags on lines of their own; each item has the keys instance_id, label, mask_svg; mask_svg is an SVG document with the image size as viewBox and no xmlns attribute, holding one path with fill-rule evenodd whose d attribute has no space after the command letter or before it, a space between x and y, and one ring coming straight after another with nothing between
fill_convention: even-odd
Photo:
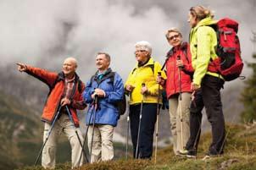
<instances>
[{"instance_id":1,"label":"beige trousers of the bald man pointing left","mask_svg":"<svg viewBox=\"0 0 256 170\"><path fill-rule=\"evenodd\" d=\"M44 134L43 134L43 142L45 142L47 138L47 134L51 125L49 123L44 123ZM66 114L62 114L59 119L56 120L52 132L48 137L47 143L42 151L42 167L44 168L54 168L55 167L55 155L56 155L56 145L58 140L58 135L64 133L68 139L70 140L71 145L71 162L72 168L79 167L83 163L83 155L81 157L81 161L79 162L81 156L81 144L75 134L75 127L73 123L70 121L70 118ZM77 129L77 133L81 139L81 143L83 143L83 137L81 135L80 129Z\"/></svg>"}]
</instances>

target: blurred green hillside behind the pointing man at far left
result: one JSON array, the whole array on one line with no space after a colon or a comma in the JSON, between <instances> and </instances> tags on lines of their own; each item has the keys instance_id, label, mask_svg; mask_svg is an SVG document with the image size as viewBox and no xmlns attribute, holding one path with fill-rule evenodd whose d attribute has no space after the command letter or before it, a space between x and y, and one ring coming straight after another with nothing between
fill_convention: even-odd
<instances>
[{"instance_id":1,"label":"blurred green hillside behind the pointing man at far left","mask_svg":"<svg viewBox=\"0 0 256 170\"><path fill-rule=\"evenodd\" d=\"M0 169L33 165L42 146L43 123L30 107L0 90ZM70 160L70 143L59 139L57 162Z\"/></svg>"}]
</instances>

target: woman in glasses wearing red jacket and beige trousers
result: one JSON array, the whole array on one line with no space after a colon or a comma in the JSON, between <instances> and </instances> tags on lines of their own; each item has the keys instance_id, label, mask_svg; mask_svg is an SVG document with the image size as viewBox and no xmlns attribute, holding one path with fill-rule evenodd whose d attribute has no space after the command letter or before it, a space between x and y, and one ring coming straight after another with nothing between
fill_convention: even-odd
<instances>
[{"instance_id":1,"label":"woman in glasses wearing red jacket and beige trousers","mask_svg":"<svg viewBox=\"0 0 256 170\"><path fill-rule=\"evenodd\" d=\"M172 48L167 53L167 80L165 90L169 99L170 130L173 136L175 155L184 150L189 138L189 106L191 102L192 64L189 45L182 42L181 32L175 28L166 33Z\"/></svg>"}]
</instances>

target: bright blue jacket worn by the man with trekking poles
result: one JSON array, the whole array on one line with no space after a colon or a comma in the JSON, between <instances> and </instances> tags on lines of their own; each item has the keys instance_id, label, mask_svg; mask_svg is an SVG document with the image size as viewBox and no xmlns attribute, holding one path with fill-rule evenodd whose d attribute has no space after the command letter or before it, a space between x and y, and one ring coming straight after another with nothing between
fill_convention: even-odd
<instances>
[{"instance_id":1,"label":"bright blue jacket worn by the man with trekking poles","mask_svg":"<svg viewBox=\"0 0 256 170\"><path fill-rule=\"evenodd\" d=\"M105 91L106 96L98 98L97 111L93 107L92 93L94 89L99 88ZM97 78L97 73L92 76L91 80L86 83L83 97L86 103L89 103L88 112L86 115L86 124L93 123L93 113L95 112L96 124L109 124L116 126L119 119L119 112L115 104L122 100L124 95L124 84L120 75L112 72L109 68L100 80ZM89 123L91 117L91 121Z\"/></svg>"}]
</instances>

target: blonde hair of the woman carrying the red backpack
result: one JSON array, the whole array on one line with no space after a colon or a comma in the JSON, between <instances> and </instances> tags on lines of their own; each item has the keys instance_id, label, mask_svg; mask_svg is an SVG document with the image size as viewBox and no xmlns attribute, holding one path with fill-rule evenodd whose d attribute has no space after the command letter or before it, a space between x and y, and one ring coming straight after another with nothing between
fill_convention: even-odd
<instances>
[{"instance_id":1,"label":"blonde hair of the woman carrying the red backpack","mask_svg":"<svg viewBox=\"0 0 256 170\"><path fill-rule=\"evenodd\" d=\"M192 14L192 16L196 16L199 20L205 19L207 17L211 17L212 19L214 18L214 12L209 8L205 8L201 5L192 7L189 10L190 14Z\"/></svg>"}]
</instances>

